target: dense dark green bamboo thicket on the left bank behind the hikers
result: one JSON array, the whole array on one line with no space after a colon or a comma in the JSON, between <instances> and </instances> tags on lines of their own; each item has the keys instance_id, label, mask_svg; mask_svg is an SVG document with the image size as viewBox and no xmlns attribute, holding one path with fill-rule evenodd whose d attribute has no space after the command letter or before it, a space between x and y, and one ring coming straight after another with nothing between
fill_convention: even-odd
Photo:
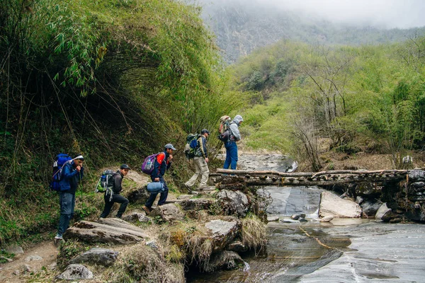
<instances>
[{"instance_id":1,"label":"dense dark green bamboo thicket on the left bank behind the hikers","mask_svg":"<svg viewBox=\"0 0 425 283\"><path fill-rule=\"evenodd\" d=\"M96 212L98 168L140 168L228 112L213 38L179 1L1 1L0 243L57 225L56 154L85 157L81 219Z\"/></svg>"}]
</instances>

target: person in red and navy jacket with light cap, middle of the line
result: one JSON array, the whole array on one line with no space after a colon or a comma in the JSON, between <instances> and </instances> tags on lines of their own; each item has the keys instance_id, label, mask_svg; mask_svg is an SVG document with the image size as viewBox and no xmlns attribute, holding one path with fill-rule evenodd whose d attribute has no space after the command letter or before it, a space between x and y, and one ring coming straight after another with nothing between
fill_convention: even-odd
<instances>
[{"instance_id":1,"label":"person in red and navy jacket with light cap, middle of the line","mask_svg":"<svg viewBox=\"0 0 425 283\"><path fill-rule=\"evenodd\" d=\"M171 167L171 162L173 161L173 151L174 146L172 144L166 144L164 146L164 152L158 154L154 163L154 171L151 173L152 182L162 182L164 183L164 192L161 192L159 197L158 205L165 204L166 197L168 197L169 188L166 185L164 180L165 171ZM149 199L145 203L145 206L142 207L147 214L152 210L152 204L154 204L155 199L157 198L158 192L151 192Z\"/></svg>"}]
</instances>

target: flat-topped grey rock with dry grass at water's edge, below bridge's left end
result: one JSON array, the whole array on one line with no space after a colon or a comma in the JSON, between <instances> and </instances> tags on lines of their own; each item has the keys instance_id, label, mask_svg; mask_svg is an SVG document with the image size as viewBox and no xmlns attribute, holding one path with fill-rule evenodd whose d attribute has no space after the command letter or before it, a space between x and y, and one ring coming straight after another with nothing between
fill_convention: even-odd
<instances>
[{"instance_id":1,"label":"flat-topped grey rock with dry grass at water's edge, below bridge's left end","mask_svg":"<svg viewBox=\"0 0 425 283\"><path fill-rule=\"evenodd\" d=\"M220 219L211 220L205 224L210 229L213 250L223 250L239 233L242 224L239 220L224 221Z\"/></svg>"}]
</instances>

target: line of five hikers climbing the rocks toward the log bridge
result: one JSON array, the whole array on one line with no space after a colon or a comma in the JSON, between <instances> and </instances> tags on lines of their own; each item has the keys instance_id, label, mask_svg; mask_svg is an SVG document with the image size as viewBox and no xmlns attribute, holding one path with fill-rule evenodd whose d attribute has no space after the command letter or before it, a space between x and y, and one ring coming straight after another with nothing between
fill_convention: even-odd
<instances>
[{"instance_id":1,"label":"line of five hikers climbing the rocks toward the log bridge","mask_svg":"<svg viewBox=\"0 0 425 283\"><path fill-rule=\"evenodd\" d=\"M241 134L239 132L239 126L241 125L243 118L241 115L236 115L232 122L229 123L229 131L227 133L227 138L223 140L226 149L226 159L223 168L228 169L229 167L234 170L237 166L238 152L237 152L237 141L241 139ZM208 176L210 171L208 169L208 149L207 141L210 136L208 129L202 129L200 135L197 139L197 149L195 151L195 156L193 157L193 164L196 168L193 176L184 184L185 187L191 192L194 187L198 177L200 179L200 188L207 187ZM163 183L163 189L158 192L150 192L149 198L146 201L145 205L142 207L147 214L152 211L152 205L157 198L157 195L160 193L158 206L165 204L166 198L168 197L169 188L166 185L164 180L165 172L171 167L173 161L173 152L176 149L173 144L166 144L164 146L164 151L160 154L157 154L154 160L154 168L150 174L152 182L161 182ZM84 157L78 155L75 158L64 163L62 166L61 178L60 178L60 220L57 229L57 234L55 236L55 241L62 240L62 235L69 227L69 221L74 214L74 205L75 205L75 192L79 182L84 176ZM120 192L123 190L122 183L123 178L130 171L130 167L127 164L120 166L120 170L112 175L112 188L111 190L106 190L104 195L105 207L101 213L101 218L106 218L113 207L113 204L119 203L120 207L116 214L116 217L121 218L125 212L125 209L128 206L128 199L123 195L120 195Z\"/></svg>"}]
</instances>

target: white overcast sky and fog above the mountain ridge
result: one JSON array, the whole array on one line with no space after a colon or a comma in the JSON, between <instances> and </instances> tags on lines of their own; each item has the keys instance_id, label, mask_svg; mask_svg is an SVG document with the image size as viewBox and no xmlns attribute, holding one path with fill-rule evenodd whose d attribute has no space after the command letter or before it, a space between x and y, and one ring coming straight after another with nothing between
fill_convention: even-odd
<instances>
[{"instance_id":1,"label":"white overcast sky and fog above the mountain ridge","mask_svg":"<svg viewBox=\"0 0 425 283\"><path fill-rule=\"evenodd\" d=\"M425 25L425 0L200 0L204 3L236 1L271 8L302 11L336 23L414 28Z\"/></svg>"}]
</instances>

